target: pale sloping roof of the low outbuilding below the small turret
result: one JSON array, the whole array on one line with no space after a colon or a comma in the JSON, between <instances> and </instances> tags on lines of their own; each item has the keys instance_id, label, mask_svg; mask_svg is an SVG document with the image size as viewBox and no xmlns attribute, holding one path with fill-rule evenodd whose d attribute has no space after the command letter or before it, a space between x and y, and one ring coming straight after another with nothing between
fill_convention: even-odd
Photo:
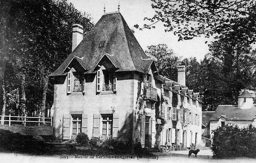
<instances>
[{"instance_id":1,"label":"pale sloping roof of the low outbuilding below the small turret","mask_svg":"<svg viewBox=\"0 0 256 163\"><path fill-rule=\"evenodd\" d=\"M218 120L220 116L227 120L252 120L256 117L256 107L253 105L250 109L241 109L233 105L219 105L210 120Z\"/></svg>"}]
</instances>

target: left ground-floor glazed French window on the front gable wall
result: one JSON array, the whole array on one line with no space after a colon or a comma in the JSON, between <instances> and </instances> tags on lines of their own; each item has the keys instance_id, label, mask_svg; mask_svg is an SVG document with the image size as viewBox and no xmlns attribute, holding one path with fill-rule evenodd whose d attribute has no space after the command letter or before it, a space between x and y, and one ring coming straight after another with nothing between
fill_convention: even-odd
<instances>
[{"instance_id":1,"label":"left ground-floor glazed French window on the front gable wall","mask_svg":"<svg viewBox=\"0 0 256 163\"><path fill-rule=\"evenodd\" d=\"M72 114L72 139L76 138L76 135L81 132L82 129L82 115Z\"/></svg>"}]
</instances>

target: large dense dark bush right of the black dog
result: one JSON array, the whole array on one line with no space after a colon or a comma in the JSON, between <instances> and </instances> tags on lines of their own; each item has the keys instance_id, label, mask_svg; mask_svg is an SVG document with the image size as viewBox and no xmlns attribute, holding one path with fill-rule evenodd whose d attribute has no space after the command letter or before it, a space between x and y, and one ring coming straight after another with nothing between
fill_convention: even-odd
<instances>
[{"instance_id":1,"label":"large dense dark bush right of the black dog","mask_svg":"<svg viewBox=\"0 0 256 163\"><path fill-rule=\"evenodd\" d=\"M212 131L212 152L216 158L256 157L256 128L227 124Z\"/></svg>"}]
</instances>

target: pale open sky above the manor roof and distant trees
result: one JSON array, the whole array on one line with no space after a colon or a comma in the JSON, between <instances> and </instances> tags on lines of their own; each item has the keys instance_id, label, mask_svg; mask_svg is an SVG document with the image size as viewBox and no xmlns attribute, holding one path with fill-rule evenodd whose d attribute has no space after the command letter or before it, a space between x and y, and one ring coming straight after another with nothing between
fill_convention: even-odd
<instances>
[{"instance_id":1,"label":"pale open sky above the manor roof and distant trees","mask_svg":"<svg viewBox=\"0 0 256 163\"><path fill-rule=\"evenodd\" d=\"M167 44L168 48L173 49L177 56L182 58L196 57L197 61L204 58L209 52L205 41L211 42L212 38L196 37L192 40L178 41L178 36L173 32L164 32L165 27L162 22L156 24L155 29L143 29L142 31L134 28L138 24L150 24L144 20L145 17L153 17L155 10L151 8L150 0L68 0L74 4L78 11L88 12L92 22L95 24L104 14L104 4L106 13L118 10L120 2L120 13L123 15L128 26L135 31L134 35L141 48L145 51L147 46L157 44Z\"/></svg>"}]
</instances>

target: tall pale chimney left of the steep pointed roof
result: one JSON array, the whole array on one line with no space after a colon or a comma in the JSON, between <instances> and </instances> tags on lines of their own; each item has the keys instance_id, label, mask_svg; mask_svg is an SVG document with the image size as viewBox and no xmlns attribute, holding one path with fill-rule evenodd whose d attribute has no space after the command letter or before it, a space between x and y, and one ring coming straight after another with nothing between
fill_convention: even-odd
<instances>
[{"instance_id":1,"label":"tall pale chimney left of the steep pointed roof","mask_svg":"<svg viewBox=\"0 0 256 163\"><path fill-rule=\"evenodd\" d=\"M80 24L74 24L72 28L72 51L74 51L77 45L83 40L84 28Z\"/></svg>"}]
</instances>

